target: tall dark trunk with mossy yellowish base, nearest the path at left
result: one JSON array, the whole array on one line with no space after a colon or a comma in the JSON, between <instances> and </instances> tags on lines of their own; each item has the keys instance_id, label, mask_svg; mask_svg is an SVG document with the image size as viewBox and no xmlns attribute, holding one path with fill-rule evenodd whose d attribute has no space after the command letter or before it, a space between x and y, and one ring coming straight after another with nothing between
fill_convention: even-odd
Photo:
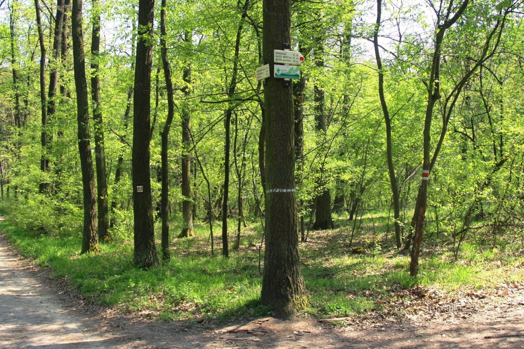
<instances>
[{"instance_id":1,"label":"tall dark trunk with mossy yellowish base, nearest the path at left","mask_svg":"<svg viewBox=\"0 0 524 349\"><path fill-rule=\"evenodd\" d=\"M81 253L99 252L96 232L96 192L91 135L89 132L88 82L85 78L84 37L82 34L82 2L73 0L71 16L73 35L74 85L77 90L78 148L84 194L84 229Z\"/></svg>"}]
</instances>

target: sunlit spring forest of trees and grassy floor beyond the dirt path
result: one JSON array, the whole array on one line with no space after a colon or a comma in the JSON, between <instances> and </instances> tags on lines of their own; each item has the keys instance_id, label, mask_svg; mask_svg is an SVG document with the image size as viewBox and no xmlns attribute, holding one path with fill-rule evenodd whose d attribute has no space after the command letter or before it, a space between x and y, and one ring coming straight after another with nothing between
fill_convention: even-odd
<instances>
[{"instance_id":1,"label":"sunlit spring forest of trees and grassy floor beyond the dirt path","mask_svg":"<svg viewBox=\"0 0 524 349\"><path fill-rule=\"evenodd\" d=\"M161 320L518 287L523 11L2 0L3 234L85 297Z\"/></svg>"}]
</instances>

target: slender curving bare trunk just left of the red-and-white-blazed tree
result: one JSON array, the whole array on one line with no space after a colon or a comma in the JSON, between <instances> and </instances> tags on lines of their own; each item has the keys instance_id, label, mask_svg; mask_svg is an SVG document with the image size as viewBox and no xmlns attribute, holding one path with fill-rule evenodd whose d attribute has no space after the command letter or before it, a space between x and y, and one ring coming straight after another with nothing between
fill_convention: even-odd
<instances>
[{"instance_id":1,"label":"slender curving bare trunk just left of the red-and-white-blazed tree","mask_svg":"<svg viewBox=\"0 0 524 349\"><path fill-rule=\"evenodd\" d=\"M395 241L397 248L402 247L402 240L400 238L400 200L397 186L397 176L395 174L395 167L393 165L393 146L391 143L391 118L389 117L388 106L384 96L384 72L382 70L382 61L380 59L380 52L378 51L378 29L380 28L380 15L382 13L382 0L377 0L377 21L375 24L375 34L373 36L373 43L375 47L375 58L377 60L378 68L378 95L380 97L380 105L384 114L386 122L386 157L389 171L389 183L391 186L391 193L393 195L393 215L395 217Z\"/></svg>"}]
</instances>

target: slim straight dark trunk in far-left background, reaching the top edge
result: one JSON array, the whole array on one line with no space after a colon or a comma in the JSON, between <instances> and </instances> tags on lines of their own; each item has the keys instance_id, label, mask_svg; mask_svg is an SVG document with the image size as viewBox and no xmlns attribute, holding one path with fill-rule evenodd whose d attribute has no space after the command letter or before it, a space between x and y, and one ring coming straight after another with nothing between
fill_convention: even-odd
<instances>
[{"instance_id":1,"label":"slim straight dark trunk in far-left background, reaching the top edge","mask_svg":"<svg viewBox=\"0 0 524 349\"><path fill-rule=\"evenodd\" d=\"M38 28L38 42L40 43L40 110L42 124L42 132L40 135L40 146L42 151L40 156L40 171L42 172L42 178L40 179L39 191L40 193L46 193L48 188L48 183L45 178L45 173L47 172L46 46L43 35L39 0L35 0L35 9L36 24Z\"/></svg>"}]
</instances>

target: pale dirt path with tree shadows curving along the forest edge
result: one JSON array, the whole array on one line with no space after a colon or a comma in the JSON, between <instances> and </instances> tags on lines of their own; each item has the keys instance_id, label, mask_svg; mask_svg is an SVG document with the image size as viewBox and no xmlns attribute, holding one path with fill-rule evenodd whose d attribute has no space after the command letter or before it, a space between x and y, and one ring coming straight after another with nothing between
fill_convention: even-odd
<instances>
[{"instance_id":1,"label":"pale dirt path with tree shadows curving along the forest edge","mask_svg":"<svg viewBox=\"0 0 524 349\"><path fill-rule=\"evenodd\" d=\"M108 314L113 314L109 316ZM340 328L316 319L273 318L219 324L145 321L79 306L0 236L0 347L39 348L479 348L524 347L524 297L469 319L386 321ZM486 339L485 336L499 336Z\"/></svg>"}]
</instances>

